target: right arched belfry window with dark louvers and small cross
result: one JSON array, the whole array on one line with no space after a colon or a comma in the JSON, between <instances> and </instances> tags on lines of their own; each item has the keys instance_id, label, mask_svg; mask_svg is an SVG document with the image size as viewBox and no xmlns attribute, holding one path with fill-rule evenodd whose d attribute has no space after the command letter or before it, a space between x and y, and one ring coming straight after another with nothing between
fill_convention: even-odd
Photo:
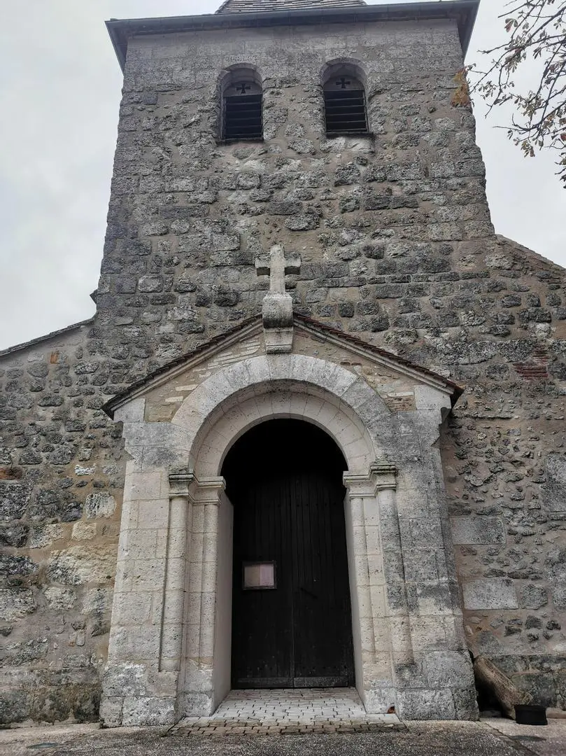
<instances>
[{"instance_id":1,"label":"right arched belfry window with dark louvers and small cross","mask_svg":"<svg viewBox=\"0 0 566 756\"><path fill-rule=\"evenodd\" d=\"M331 76L324 85L326 135L367 134L366 92L354 76Z\"/></svg>"}]
</instances>

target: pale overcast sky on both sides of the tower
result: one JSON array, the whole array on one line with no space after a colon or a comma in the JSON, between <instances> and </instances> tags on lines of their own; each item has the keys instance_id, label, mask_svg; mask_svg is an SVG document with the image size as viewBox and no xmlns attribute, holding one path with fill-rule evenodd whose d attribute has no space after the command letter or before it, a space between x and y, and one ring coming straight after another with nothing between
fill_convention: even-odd
<instances>
[{"instance_id":1,"label":"pale overcast sky on both sides of the tower","mask_svg":"<svg viewBox=\"0 0 566 756\"><path fill-rule=\"evenodd\" d=\"M104 20L212 13L220 2L2 2L0 349L94 313L122 85ZM468 62L503 41L504 5L483 0ZM486 122L478 105L476 116L497 233L566 265L566 191L552 155L524 159L494 128L503 113Z\"/></svg>"}]
</instances>

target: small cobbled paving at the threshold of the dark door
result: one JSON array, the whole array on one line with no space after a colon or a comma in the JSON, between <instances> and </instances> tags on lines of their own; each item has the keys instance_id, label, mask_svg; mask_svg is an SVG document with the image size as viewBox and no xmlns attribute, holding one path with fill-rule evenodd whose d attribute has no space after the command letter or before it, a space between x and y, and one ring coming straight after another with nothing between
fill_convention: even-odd
<instances>
[{"instance_id":1,"label":"small cobbled paving at the threshold of the dark door","mask_svg":"<svg viewBox=\"0 0 566 756\"><path fill-rule=\"evenodd\" d=\"M212 717L187 717L172 735L354 733L394 729L395 714L367 714L355 688L233 690Z\"/></svg>"}]
</instances>

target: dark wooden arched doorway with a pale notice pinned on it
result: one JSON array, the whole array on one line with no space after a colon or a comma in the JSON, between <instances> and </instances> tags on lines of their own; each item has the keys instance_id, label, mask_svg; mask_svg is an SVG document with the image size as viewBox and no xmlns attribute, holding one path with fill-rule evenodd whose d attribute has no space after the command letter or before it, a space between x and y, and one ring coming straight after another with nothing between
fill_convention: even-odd
<instances>
[{"instance_id":1,"label":"dark wooden arched doorway with a pale notice pinned on it","mask_svg":"<svg viewBox=\"0 0 566 756\"><path fill-rule=\"evenodd\" d=\"M268 420L228 452L234 688L354 684L345 469L303 420Z\"/></svg>"}]
</instances>

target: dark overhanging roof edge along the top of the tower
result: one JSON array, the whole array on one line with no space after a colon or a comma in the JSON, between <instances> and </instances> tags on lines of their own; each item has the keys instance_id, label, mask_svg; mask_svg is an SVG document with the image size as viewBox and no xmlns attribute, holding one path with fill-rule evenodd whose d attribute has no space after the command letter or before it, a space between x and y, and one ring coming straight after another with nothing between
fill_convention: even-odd
<instances>
[{"instance_id":1,"label":"dark overhanging roof edge along the top of the tower","mask_svg":"<svg viewBox=\"0 0 566 756\"><path fill-rule=\"evenodd\" d=\"M435 20L453 18L458 22L462 50L466 53L472 36L480 0L445 0L445 2L391 3L343 8L312 8L295 11L261 11L259 13L214 13L200 16L110 19L108 33L122 71L132 36L175 34L207 29L258 26L289 26L290 24L363 23L364 21Z\"/></svg>"}]
</instances>

